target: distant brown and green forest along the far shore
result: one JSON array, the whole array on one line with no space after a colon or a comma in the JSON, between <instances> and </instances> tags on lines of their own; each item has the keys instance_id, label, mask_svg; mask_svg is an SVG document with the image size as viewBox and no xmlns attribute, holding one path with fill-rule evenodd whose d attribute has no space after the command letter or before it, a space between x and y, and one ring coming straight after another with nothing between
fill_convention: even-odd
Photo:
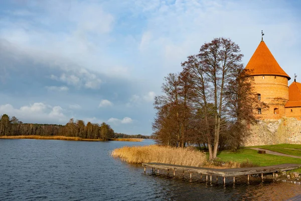
<instances>
[{"instance_id":1,"label":"distant brown and green forest along the far shore","mask_svg":"<svg viewBox=\"0 0 301 201\"><path fill-rule=\"evenodd\" d=\"M151 138L151 136L144 135L115 133L110 125L106 123L99 125L88 122L87 125L85 125L83 120L74 121L74 119L70 119L65 126L56 124L24 124L15 116L10 118L6 114L2 115L0 120L0 136L4 135L66 136L102 140L109 138Z\"/></svg>"}]
</instances>

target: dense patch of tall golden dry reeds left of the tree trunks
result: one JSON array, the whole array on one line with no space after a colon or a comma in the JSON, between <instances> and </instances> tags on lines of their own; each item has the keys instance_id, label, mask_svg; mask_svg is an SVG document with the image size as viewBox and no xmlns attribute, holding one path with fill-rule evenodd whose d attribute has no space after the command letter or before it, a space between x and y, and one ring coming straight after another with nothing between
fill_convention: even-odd
<instances>
[{"instance_id":1,"label":"dense patch of tall golden dry reeds left of the tree trunks","mask_svg":"<svg viewBox=\"0 0 301 201\"><path fill-rule=\"evenodd\" d=\"M204 152L159 145L132 146L114 149L111 154L128 163L169 163L202 167L207 162Z\"/></svg>"}]
</instances>

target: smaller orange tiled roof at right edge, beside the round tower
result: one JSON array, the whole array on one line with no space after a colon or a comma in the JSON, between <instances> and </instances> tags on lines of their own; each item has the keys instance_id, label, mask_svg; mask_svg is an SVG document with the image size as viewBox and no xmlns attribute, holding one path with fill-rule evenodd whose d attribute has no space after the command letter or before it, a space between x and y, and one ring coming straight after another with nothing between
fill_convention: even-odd
<instances>
[{"instance_id":1,"label":"smaller orange tiled roof at right edge, beside the round tower","mask_svg":"<svg viewBox=\"0 0 301 201\"><path fill-rule=\"evenodd\" d=\"M301 107L301 83L292 82L288 87L288 102L285 108Z\"/></svg>"}]
</instances>

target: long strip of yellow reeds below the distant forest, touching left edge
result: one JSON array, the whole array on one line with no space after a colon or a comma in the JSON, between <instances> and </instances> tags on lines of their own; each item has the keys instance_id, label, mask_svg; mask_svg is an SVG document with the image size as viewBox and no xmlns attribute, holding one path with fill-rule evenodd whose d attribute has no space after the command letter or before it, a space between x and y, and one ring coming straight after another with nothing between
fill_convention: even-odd
<instances>
[{"instance_id":1,"label":"long strip of yellow reeds below the distant forest, touching left edge","mask_svg":"<svg viewBox=\"0 0 301 201\"><path fill-rule=\"evenodd\" d=\"M39 135L0 136L0 139L36 139L36 140L99 141L98 139L83 139L83 138L78 138L78 137L66 137L66 136L39 136Z\"/></svg>"}]
</instances>

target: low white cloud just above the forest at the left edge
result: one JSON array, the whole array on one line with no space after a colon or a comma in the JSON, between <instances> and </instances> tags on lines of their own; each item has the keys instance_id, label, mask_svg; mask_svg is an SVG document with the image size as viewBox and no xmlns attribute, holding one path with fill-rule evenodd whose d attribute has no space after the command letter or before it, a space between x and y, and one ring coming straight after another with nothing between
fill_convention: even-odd
<instances>
[{"instance_id":1,"label":"low white cloud just above the forest at the left edge","mask_svg":"<svg viewBox=\"0 0 301 201\"><path fill-rule=\"evenodd\" d=\"M16 116L25 123L65 124L68 121L60 106L52 107L43 103L22 106L20 109L10 104L1 105L0 114Z\"/></svg>"}]
</instances>

